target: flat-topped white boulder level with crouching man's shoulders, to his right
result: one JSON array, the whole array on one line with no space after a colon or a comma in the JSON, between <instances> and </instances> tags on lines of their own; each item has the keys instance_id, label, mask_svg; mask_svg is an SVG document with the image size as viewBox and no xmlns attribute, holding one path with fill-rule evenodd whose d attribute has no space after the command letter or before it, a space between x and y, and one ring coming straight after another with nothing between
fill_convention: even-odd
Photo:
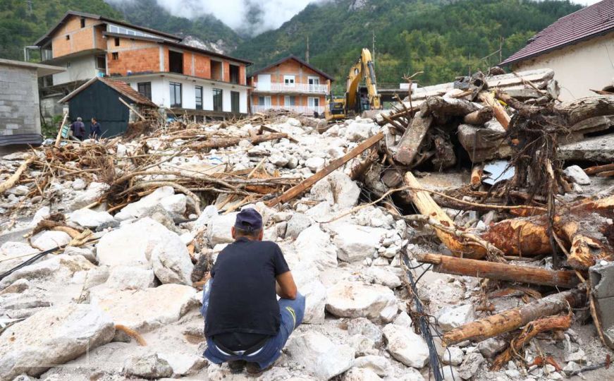
<instances>
[{"instance_id":1,"label":"flat-topped white boulder level with crouching man's shoulders, to his right","mask_svg":"<svg viewBox=\"0 0 614 381\"><path fill-rule=\"evenodd\" d=\"M336 233L333 242L339 248L339 259L345 262L362 262L371 257L386 236L386 229L356 224L336 224L332 229Z\"/></svg>"}]
</instances>

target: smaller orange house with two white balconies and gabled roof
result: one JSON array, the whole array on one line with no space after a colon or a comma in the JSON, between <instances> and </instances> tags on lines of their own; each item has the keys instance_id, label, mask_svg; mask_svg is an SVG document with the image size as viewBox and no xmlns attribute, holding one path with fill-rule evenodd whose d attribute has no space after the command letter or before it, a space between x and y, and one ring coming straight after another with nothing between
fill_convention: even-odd
<instances>
[{"instance_id":1,"label":"smaller orange house with two white balconies and gabled roof","mask_svg":"<svg viewBox=\"0 0 614 381\"><path fill-rule=\"evenodd\" d=\"M287 109L301 114L324 113L333 77L296 56L271 63L247 78L252 86L252 113Z\"/></svg>"}]
</instances>

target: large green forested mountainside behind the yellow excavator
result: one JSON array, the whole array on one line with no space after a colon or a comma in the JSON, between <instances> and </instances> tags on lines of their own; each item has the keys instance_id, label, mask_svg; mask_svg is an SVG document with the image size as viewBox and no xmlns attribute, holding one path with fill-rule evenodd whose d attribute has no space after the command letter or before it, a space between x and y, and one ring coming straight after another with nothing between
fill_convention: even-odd
<instances>
[{"instance_id":1,"label":"large green forested mountainside behind the yellow excavator","mask_svg":"<svg viewBox=\"0 0 614 381\"><path fill-rule=\"evenodd\" d=\"M375 34L379 83L398 86L404 74L424 71L416 79L428 85L495 65L500 46L505 58L579 8L549 0L335 0L307 6L233 54L249 57L256 69L288 54L304 57L309 36L309 62L335 76L339 92L360 49L372 49Z\"/></svg>"}]
</instances>

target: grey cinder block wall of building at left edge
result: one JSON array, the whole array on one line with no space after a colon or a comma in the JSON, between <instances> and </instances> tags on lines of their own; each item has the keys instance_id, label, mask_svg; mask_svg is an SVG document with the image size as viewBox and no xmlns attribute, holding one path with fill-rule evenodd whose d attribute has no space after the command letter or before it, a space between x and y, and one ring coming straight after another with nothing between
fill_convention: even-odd
<instances>
[{"instance_id":1,"label":"grey cinder block wall of building at left edge","mask_svg":"<svg viewBox=\"0 0 614 381\"><path fill-rule=\"evenodd\" d=\"M36 70L0 65L0 135L40 132Z\"/></svg>"}]
</instances>

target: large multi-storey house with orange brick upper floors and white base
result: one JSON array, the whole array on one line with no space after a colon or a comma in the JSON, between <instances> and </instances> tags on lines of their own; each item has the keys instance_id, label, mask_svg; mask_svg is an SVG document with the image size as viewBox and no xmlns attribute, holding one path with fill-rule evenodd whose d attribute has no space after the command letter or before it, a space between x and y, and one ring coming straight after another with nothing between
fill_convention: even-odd
<instances>
[{"instance_id":1,"label":"large multi-storey house with orange brick upper floors and white base","mask_svg":"<svg viewBox=\"0 0 614 381\"><path fill-rule=\"evenodd\" d=\"M180 37L90 13L69 11L35 42L44 63L66 67L44 80L57 99L96 76L111 76L171 114L247 114L251 62L182 43Z\"/></svg>"}]
</instances>

